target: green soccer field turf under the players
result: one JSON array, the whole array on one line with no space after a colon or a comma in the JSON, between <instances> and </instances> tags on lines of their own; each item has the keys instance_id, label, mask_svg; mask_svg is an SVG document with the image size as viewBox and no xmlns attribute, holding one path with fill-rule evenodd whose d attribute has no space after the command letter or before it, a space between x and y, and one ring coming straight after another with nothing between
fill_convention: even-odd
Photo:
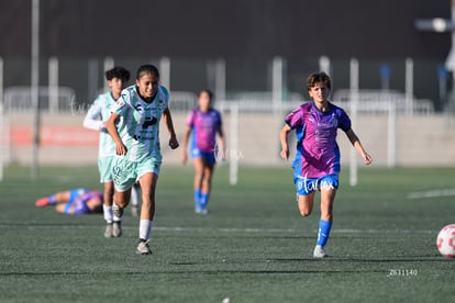
<instances>
[{"instance_id":1,"label":"green soccer field turf under the players","mask_svg":"<svg viewBox=\"0 0 455 303\"><path fill-rule=\"evenodd\" d=\"M299 215L289 167L226 166L208 216L192 210L192 169L163 167L152 256L135 254L137 218L103 237L101 215L65 216L34 201L100 189L93 168L8 168L0 183L1 302L448 302L455 260L435 247L455 223L455 169L363 168L341 176L326 259L313 259L319 203ZM319 198L319 197L318 197Z\"/></svg>"}]
</instances>

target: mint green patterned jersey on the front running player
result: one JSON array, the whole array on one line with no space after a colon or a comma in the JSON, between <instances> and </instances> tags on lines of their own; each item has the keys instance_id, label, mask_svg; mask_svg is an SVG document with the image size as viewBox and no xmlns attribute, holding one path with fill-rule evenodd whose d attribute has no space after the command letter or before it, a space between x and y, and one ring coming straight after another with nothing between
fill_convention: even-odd
<instances>
[{"instance_id":1,"label":"mint green patterned jersey on the front running player","mask_svg":"<svg viewBox=\"0 0 455 303\"><path fill-rule=\"evenodd\" d=\"M122 91L111 111L120 115L116 130L127 149L125 159L134 162L149 157L158 161L162 159L159 121L168 102L169 92L162 86L152 102L141 99L136 86Z\"/></svg>"}]
</instances>

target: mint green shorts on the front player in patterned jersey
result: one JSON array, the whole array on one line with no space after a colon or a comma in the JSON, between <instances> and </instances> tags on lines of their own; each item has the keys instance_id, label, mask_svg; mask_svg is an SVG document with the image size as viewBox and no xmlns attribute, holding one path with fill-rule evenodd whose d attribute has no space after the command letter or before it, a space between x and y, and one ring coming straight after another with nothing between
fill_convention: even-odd
<instances>
[{"instance_id":1,"label":"mint green shorts on the front player in patterned jersey","mask_svg":"<svg viewBox=\"0 0 455 303\"><path fill-rule=\"evenodd\" d=\"M138 179L147 172L159 175L162 160L153 157L142 161L130 161L121 157L115 157L112 161L112 177L114 187L118 191L126 191L132 188Z\"/></svg>"}]
</instances>

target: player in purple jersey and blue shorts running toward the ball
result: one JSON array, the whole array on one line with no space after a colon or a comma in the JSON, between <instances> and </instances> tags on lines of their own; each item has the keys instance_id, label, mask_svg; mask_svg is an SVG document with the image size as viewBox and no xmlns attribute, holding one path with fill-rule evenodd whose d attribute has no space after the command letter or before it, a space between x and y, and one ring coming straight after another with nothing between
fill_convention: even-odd
<instances>
[{"instance_id":1,"label":"player in purple jersey and blue shorts running toward the ball","mask_svg":"<svg viewBox=\"0 0 455 303\"><path fill-rule=\"evenodd\" d=\"M351 120L343 109L329 101L331 79L325 72L312 74L307 79L307 90L312 99L286 116L281 128L281 158L288 160L288 134L296 131L297 152L293 160L293 181L296 184L300 214L310 215L313 209L315 190L321 191L321 220L314 258L326 257L324 245L328 243L333 222L333 202L339 188L340 149L336 144L337 128L343 130L366 165L373 162L357 135L351 128Z\"/></svg>"}]
</instances>

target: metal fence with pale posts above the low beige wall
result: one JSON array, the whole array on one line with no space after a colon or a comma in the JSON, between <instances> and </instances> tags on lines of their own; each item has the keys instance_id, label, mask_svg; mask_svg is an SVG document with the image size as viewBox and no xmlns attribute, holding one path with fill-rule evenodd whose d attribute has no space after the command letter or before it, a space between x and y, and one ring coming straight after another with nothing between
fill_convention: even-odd
<instances>
[{"instance_id":1,"label":"metal fence with pale posts above the low beige wall","mask_svg":"<svg viewBox=\"0 0 455 303\"><path fill-rule=\"evenodd\" d=\"M0 100L5 112L31 109L27 60L1 59ZM196 104L196 93L203 88L215 92L217 102L235 102L244 111L273 111L308 99L304 79L313 71L326 70L332 77L332 100L348 106L351 99L349 60L326 57L291 61L182 59L182 58L49 58L40 63L40 108L42 111L87 110L108 88L103 71L121 65L134 75L143 63L153 63L162 71L162 82L170 89L174 111L187 111ZM384 66L389 66L385 74ZM442 112L453 108L450 97L451 75L441 72L442 63L404 59L358 63L359 111L382 113L392 103L401 114ZM412 68L410 68L412 67ZM131 81L133 82L133 80ZM1 93L4 92L4 93ZM452 100L452 101L451 101ZM452 103L451 103L452 102Z\"/></svg>"}]
</instances>

